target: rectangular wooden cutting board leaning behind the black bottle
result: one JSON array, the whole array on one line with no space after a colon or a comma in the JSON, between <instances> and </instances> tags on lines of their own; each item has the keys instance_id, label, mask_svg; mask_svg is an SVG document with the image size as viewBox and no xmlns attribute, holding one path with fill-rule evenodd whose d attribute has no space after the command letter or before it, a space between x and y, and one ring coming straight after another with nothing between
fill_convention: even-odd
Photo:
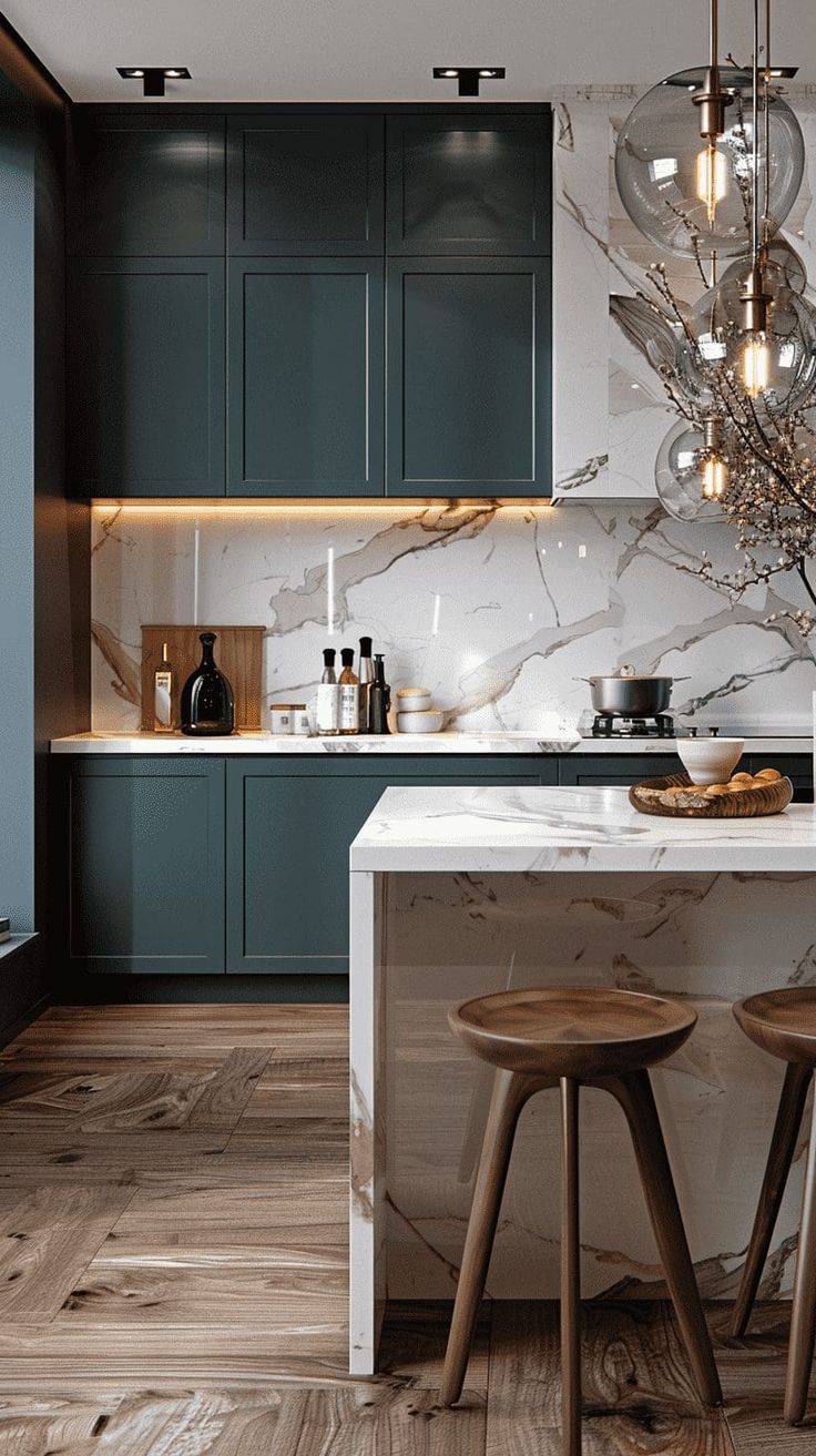
<instances>
[{"instance_id":1,"label":"rectangular wooden cutting board leaning behind the black bottle","mask_svg":"<svg viewBox=\"0 0 816 1456\"><path fill-rule=\"evenodd\" d=\"M161 661L161 644L173 668L173 721L179 722L179 699L189 674L201 662L202 632L217 636L212 649L215 665L228 678L236 697L236 728L255 729L260 722L263 628L179 626L177 623L141 629L141 727L153 729L153 674Z\"/></svg>"}]
</instances>

